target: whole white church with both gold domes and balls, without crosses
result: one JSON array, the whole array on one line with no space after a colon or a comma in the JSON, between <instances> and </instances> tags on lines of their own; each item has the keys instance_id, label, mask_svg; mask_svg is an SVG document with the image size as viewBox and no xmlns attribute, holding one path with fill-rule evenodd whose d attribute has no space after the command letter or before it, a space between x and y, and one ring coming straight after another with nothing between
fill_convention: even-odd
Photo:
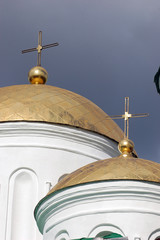
<instances>
[{"instance_id":1,"label":"whole white church with both gold domes and balls, without crosses","mask_svg":"<svg viewBox=\"0 0 160 240\"><path fill-rule=\"evenodd\" d=\"M33 84L0 89L0 239L160 239L160 165L44 77L37 67Z\"/></svg>"}]
</instances>

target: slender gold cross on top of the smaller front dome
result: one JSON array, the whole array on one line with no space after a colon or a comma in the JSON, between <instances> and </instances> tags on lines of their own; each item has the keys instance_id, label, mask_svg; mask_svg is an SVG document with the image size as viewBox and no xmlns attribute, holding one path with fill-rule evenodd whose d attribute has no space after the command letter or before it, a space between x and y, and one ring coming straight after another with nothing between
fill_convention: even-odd
<instances>
[{"instance_id":1,"label":"slender gold cross on top of the smaller front dome","mask_svg":"<svg viewBox=\"0 0 160 240\"><path fill-rule=\"evenodd\" d=\"M124 119L124 137L129 137L129 119L137 117L148 117L148 113L130 114L129 113L129 97L125 97L125 113L123 115L113 115L108 118Z\"/></svg>"}]
</instances>

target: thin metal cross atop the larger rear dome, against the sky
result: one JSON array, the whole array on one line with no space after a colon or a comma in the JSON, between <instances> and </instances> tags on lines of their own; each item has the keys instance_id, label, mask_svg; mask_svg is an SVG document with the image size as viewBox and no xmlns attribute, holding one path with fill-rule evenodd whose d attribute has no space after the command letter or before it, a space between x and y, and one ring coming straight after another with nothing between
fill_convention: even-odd
<instances>
[{"instance_id":1,"label":"thin metal cross atop the larger rear dome, against the sky","mask_svg":"<svg viewBox=\"0 0 160 240\"><path fill-rule=\"evenodd\" d=\"M56 43L51 43L51 44L42 46L42 31L39 31L37 48L30 48L30 49L23 50L22 53L37 51L38 52L37 66L41 66L41 51L42 51L42 49L46 49L46 48L50 48L50 47L56 47L58 45L59 45L59 43L56 42Z\"/></svg>"}]
</instances>

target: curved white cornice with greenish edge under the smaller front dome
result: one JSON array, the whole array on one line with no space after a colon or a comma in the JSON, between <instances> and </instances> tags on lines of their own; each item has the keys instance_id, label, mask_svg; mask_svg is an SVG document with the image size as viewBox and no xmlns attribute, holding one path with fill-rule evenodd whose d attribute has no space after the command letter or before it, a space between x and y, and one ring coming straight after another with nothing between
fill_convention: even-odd
<instances>
[{"instance_id":1,"label":"curved white cornice with greenish edge under the smaller front dome","mask_svg":"<svg viewBox=\"0 0 160 240\"><path fill-rule=\"evenodd\" d=\"M116 202L125 204L117 205ZM83 206L83 210L75 211L79 209L78 206ZM45 223L54 219L52 225L49 224L46 229L47 232L68 219L104 213L144 213L160 216L160 186L139 181L106 181L71 187L44 199L37 208L36 220L43 232Z\"/></svg>"}]
</instances>

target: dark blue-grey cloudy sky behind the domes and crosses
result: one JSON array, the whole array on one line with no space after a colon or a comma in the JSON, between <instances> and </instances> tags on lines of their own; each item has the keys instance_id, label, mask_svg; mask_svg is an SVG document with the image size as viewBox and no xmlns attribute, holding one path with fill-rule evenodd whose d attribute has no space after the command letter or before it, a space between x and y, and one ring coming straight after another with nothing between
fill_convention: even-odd
<instances>
[{"instance_id":1,"label":"dark blue-grey cloudy sky behind the domes and crosses","mask_svg":"<svg viewBox=\"0 0 160 240\"><path fill-rule=\"evenodd\" d=\"M160 65L159 0L1 0L0 87L28 84L36 65L38 31L48 84L83 95L107 114L124 112L130 97L130 138L139 157L160 162L160 95L153 78ZM123 128L122 120L117 123Z\"/></svg>"}]
</instances>

